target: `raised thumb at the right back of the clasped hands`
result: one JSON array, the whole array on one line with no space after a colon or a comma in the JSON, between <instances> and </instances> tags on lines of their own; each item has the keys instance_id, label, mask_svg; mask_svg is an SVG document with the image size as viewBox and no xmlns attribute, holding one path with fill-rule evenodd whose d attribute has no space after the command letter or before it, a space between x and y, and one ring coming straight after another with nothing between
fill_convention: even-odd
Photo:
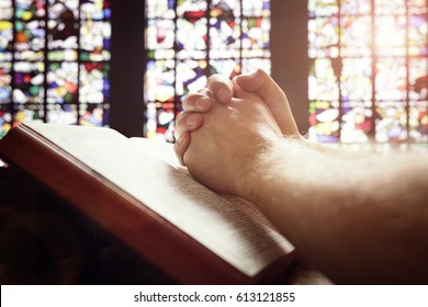
<instances>
[{"instance_id":1,"label":"raised thumb at the right back of the clasped hands","mask_svg":"<svg viewBox=\"0 0 428 307\"><path fill-rule=\"evenodd\" d=\"M256 93L264 101L284 135L299 135L285 93L264 70L240 75L235 81L241 89Z\"/></svg>"}]
</instances>

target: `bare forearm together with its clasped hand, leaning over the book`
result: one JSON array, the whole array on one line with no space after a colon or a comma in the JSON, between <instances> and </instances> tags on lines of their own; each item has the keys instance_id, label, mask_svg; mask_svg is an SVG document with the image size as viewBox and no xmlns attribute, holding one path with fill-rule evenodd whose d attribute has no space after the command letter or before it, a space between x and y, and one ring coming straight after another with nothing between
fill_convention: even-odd
<instances>
[{"instance_id":1,"label":"bare forearm together with its clasped hand, leaning over the book","mask_svg":"<svg viewBox=\"0 0 428 307\"><path fill-rule=\"evenodd\" d=\"M272 107L236 80L234 96L178 123L196 180L257 204L334 282L428 282L427 157L319 150L284 137ZM201 116L193 130L190 115Z\"/></svg>"}]
</instances>

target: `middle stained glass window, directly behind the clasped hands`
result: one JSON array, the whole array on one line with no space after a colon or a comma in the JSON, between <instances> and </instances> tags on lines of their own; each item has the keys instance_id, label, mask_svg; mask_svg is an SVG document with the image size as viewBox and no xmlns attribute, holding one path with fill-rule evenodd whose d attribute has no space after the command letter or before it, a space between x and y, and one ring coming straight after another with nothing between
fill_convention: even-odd
<instances>
[{"instance_id":1,"label":"middle stained glass window, directly behind the clasped hands","mask_svg":"<svg viewBox=\"0 0 428 307\"><path fill-rule=\"evenodd\" d=\"M207 76L270 71L269 0L146 0L145 136L173 140L174 118Z\"/></svg>"}]
</instances>

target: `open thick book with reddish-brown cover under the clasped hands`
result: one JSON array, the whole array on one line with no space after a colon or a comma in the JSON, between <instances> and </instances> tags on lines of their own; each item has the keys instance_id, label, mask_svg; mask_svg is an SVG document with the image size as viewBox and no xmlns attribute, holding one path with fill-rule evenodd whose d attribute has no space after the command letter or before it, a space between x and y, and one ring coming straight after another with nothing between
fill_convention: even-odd
<instances>
[{"instance_id":1,"label":"open thick book with reddish-brown cover under the clasped hands","mask_svg":"<svg viewBox=\"0 0 428 307\"><path fill-rule=\"evenodd\" d=\"M269 282L294 247L256 206L194 181L170 144L110 128L21 124L0 156L184 284Z\"/></svg>"}]
</instances>

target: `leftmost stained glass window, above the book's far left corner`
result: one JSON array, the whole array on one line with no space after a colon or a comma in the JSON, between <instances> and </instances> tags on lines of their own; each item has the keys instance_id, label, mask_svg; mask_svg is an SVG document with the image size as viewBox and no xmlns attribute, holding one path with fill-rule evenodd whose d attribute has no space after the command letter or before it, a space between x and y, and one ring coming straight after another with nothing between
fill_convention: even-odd
<instances>
[{"instance_id":1,"label":"leftmost stained glass window, above the book's far left corner","mask_svg":"<svg viewBox=\"0 0 428 307\"><path fill-rule=\"evenodd\" d=\"M0 0L0 137L27 121L109 125L110 0Z\"/></svg>"}]
</instances>

